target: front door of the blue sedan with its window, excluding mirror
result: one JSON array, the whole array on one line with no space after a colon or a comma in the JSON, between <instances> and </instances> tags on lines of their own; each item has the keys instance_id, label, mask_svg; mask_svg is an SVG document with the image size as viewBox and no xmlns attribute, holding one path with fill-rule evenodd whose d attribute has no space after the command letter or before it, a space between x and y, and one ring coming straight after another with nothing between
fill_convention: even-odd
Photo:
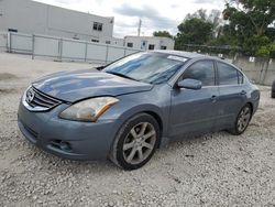
<instances>
[{"instance_id":1,"label":"front door of the blue sedan with its window, excluding mirror","mask_svg":"<svg viewBox=\"0 0 275 207\"><path fill-rule=\"evenodd\" d=\"M202 83L198 90L174 88L169 119L169 137L182 138L189 134L212 131L217 118L219 96L212 61L198 61L190 65L179 78L193 78Z\"/></svg>"}]
</instances>

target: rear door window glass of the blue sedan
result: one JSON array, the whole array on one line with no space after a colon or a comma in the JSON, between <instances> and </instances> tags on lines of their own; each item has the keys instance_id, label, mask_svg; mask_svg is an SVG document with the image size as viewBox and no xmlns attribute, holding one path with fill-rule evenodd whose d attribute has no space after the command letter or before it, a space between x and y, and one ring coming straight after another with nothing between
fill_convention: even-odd
<instances>
[{"instance_id":1,"label":"rear door window glass of the blue sedan","mask_svg":"<svg viewBox=\"0 0 275 207\"><path fill-rule=\"evenodd\" d=\"M238 85L240 81L243 81L241 75L239 80L238 70L234 67L221 62L218 62L217 66L220 85Z\"/></svg>"}]
</instances>

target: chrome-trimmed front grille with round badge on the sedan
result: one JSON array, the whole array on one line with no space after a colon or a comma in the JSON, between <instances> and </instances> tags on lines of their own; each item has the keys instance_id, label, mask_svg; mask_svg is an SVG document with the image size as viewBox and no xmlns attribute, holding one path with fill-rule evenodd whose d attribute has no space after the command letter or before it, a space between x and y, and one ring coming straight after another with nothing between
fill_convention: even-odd
<instances>
[{"instance_id":1,"label":"chrome-trimmed front grille with round badge on the sedan","mask_svg":"<svg viewBox=\"0 0 275 207\"><path fill-rule=\"evenodd\" d=\"M50 97L34 87L30 87L25 91L23 102L28 109L34 111L50 110L62 103L61 100Z\"/></svg>"}]
</instances>

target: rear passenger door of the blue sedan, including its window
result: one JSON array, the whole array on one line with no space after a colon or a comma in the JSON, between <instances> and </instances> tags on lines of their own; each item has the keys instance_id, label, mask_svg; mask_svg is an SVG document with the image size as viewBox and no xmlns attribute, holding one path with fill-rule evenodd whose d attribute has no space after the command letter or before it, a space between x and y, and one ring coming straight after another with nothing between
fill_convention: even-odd
<instances>
[{"instance_id":1,"label":"rear passenger door of the blue sedan, including its window","mask_svg":"<svg viewBox=\"0 0 275 207\"><path fill-rule=\"evenodd\" d=\"M246 101L246 88L243 75L233 66L216 62L219 84L218 119L216 127L227 129L231 127Z\"/></svg>"}]
</instances>

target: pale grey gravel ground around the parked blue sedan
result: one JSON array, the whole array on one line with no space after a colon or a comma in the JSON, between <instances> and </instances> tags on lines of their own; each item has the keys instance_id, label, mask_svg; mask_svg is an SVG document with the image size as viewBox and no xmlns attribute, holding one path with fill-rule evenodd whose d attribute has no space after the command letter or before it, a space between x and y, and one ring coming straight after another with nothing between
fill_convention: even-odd
<instances>
[{"instance_id":1,"label":"pale grey gravel ground around the parked blue sedan","mask_svg":"<svg viewBox=\"0 0 275 207\"><path fill-rule=\"evenodd\" d=\"M275 206L275 99L262 90L246 132L175 142L141 170L42 152L16 127L30 83L91 65L0 54L0 206Z\"/></svg>"}]
</instances>

